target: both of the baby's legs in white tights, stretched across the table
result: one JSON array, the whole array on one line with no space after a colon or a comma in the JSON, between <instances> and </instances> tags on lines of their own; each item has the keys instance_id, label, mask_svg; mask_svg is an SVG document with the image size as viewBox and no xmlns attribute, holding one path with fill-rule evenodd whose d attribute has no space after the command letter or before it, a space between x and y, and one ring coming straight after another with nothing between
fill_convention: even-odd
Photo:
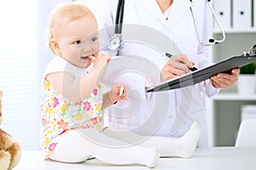
<instances>
[{"instance_id":1,"label":"both of the baby's legs in white tights, stretched across the table","mask_svg":"<svg viewBox=\"0 0 256 170\"><path fill-rule=\"evenodd\" d=\"M111 164L154 167L159 156L192 156L200 132L197 123L179 139L155 136L146 138L129 131L120 132L108 128L102 132L96 129L71 130L56 144L49 158L81 162L93 156Z\"/></svg>"}]
</instances>

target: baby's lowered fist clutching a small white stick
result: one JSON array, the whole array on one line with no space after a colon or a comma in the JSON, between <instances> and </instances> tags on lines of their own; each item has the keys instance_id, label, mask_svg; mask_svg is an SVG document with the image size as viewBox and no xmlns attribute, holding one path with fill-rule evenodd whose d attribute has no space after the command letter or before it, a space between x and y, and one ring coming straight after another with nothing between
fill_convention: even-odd
<instances>
[{"instance_id":1,"label":"baby's lowered fist clutching a small white stick","mask_svg":"<svg viewBox=\"0 0 256 170\"><path fill-rule=\"evenodd\" d=\"M109 91L109 98L112 104L116 104L121 99L127 99L126 88L122 85L117 85Z\"/></svg>"}]
</instances>

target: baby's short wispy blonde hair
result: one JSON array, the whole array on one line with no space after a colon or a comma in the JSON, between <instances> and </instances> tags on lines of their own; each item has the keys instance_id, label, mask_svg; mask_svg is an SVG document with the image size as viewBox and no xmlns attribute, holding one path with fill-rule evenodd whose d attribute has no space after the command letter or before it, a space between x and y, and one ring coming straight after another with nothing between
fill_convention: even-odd
<instances>
[{"instance_id":1,"label":"baby's short wispy blonde hair","mask_svg":"<svg viewBox=\"0 0 256 170\"><path fill-rule=\"evenodd\" d=\"M48 26L48 34L49 34L49 48L54 54L58 54L55 51L55 48L52 47L50 40L52 38L57 37L58 28L62 23L67 23L73 20L79 20L84 16L90 16L95 18L94 14L90 11L89 8L86 8L81 3L62 3L58 7L56 7L52 13L49 15L49 26Z\"/></svg>"}]
</instances>

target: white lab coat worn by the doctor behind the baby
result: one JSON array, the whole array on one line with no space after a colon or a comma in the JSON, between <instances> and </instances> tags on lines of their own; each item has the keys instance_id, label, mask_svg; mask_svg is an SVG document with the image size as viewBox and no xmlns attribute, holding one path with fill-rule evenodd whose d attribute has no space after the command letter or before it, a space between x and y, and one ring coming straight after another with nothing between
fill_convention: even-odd
<instances>
[{"instance_id":1,"label":"white lab coat worn by the doctor behind the baby","mask_svg":"<svg viewBox=\"0 0 256 170\"><path fill-rule=\"evenodd\" d=\"M198 41L189 7L192 5L194 8L199 34L203 42L207 42L211 36L212 13L205 0L193 2L174 0L171 13L166 20L155 0L126 0L123 23L124 25L131 24L131 27L130 25L127 28L124 26L123 38L135 41L139 39L139 41L148 42L150 46L155 45L156 48L145 48L142 47L142 43L127 41L125 47L119 51L119 55L140 55L161 68L166 63L166 59L160 53L165 53L166 50L172 54L186 54L191 61L195 62L196 67L202 68L208 65L209 48L201 46ZM118 0L87 0L85 4L96 15L100 32L106 33L106 28L108 28L107 34L103 33L104 36L101 37L106 40L102 42L105 45L111 36L108 34L113 34ZM137 26L148 26L148 29L140 31ZM133 27L135 29L131 31ZM148 30L148 33L145 30ZM144 39L139 37L142 34L145 34L142 36ZM132 37L132 35L136 36ZM179 50L176 50L172 42L163 42L162 39L165 38L161 37L168 37ZM117 79L130 90L141 88L146 83L143 77L132 74L125 74ZM207 146L207 124L202 94L211 97L217 93L218 89L213 88L210 80L207 80L189 88L145 94L145 98L143 94L140 94L138 99L133 98L134 102L130 99L129 105L132 105L132 108L125 110L123 109L125 106L122 108L122 106L114 105L106 111L108 126L130 129L143 135L180 137L196 121L200 122L202 128L198 146Z\"/></svg>"}]
</instances>

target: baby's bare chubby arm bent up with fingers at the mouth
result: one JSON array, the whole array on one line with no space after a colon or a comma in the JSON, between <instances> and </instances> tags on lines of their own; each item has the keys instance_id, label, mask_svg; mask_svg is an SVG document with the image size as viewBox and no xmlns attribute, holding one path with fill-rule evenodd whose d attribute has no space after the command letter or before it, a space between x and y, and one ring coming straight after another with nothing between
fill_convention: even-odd
<instances>
[{"instance_id":1,"label":"baby's bare chubby arm bent up with fingers at the mouth","mask_svg":"<svg viewBox=\"0 0 256 170\"><path fill-rule=\"evenodd\" d=\"M96 57L90 56L90 59L94 62L94 68L83 77L75 78L69 72L55 72L45 78L66 99L79 102L91 94L101 81L110 56L98 54Z\"/></svg>"}]
</instances>

